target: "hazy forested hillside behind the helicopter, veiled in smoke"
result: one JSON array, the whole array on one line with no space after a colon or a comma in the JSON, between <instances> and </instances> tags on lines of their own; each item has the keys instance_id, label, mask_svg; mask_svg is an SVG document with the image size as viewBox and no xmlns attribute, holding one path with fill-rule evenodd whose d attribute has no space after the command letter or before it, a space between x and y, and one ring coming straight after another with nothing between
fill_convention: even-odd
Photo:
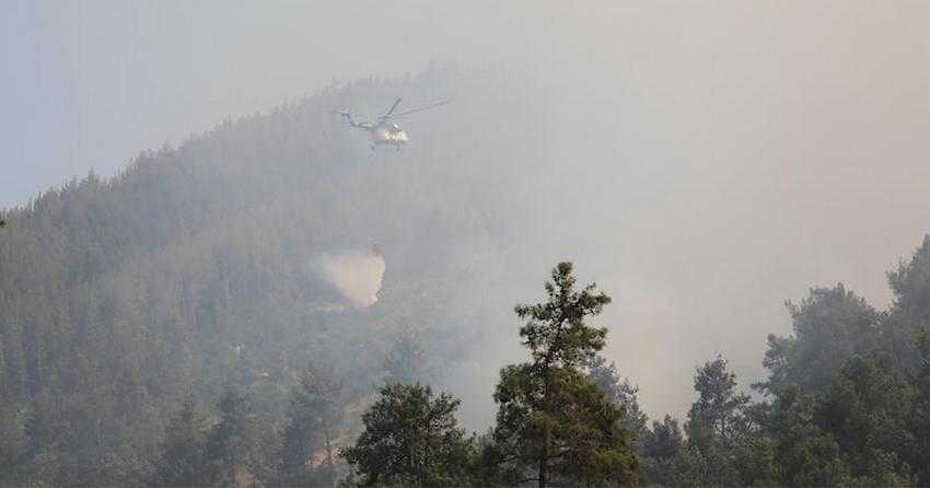
<instances>
[{"instance_id":1,"label":"hazy forested hillside behind the helicopter, veiled in smoke","mask_svg":"<svg viewBox=\"0 0 930 488\"><path fill-rule=\"evenodd\" d=\"M487 309L446 309L475 282L469 263L519 231L518 174L542 150L519 143L540 126L502 83L441 69L360 81L8 211L0 392L3 429L20 433L3 437L3 465L28 479L123 484L150 470L185 398L211 405L237 385L274 426L310 361L361 396L384 376L398 330L454 361L480 334L460 326ZM396 96L455 103L411 118L416 144L402 152L372 153L367 135L327 113L376 116ZM486 118L491 109L512 115ZM313 259L374 243L387 262L382 301L346 306Z\"/></svg>"}]
</instances>

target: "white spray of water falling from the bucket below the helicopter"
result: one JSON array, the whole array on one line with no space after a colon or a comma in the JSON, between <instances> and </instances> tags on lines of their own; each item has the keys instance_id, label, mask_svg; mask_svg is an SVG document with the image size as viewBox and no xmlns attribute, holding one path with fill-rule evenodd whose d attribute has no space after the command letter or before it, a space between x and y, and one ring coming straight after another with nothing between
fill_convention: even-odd
<instances>
[{"instance_id":1,"label":"white spray of water falling from the bucket below the helicopter","mask_svg":"<svg viewBox=\"0 0 930 488\"><path fill-rule=\"evenodd\" d=\"M377 302L377 292L381 291L386 267L377 246L367 252L323 254L317 257L316 265L321 278L352 305L365 307Z\"/></svg>"}]
</instances>

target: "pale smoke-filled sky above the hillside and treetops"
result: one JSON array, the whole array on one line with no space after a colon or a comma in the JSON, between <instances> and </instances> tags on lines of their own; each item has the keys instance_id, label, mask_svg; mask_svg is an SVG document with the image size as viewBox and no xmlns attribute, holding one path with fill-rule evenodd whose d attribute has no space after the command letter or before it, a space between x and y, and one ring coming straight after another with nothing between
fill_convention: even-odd
<instances>
[{"instance_id":1,"label":"pale smoke-filled sky above the hillside and treetops","mask_svg":"<svg viewBox=\"0 0 930 488\"><path fill-rule=\"evenodd\" d=\"M334 83L532 71L545 171L590 211L553 258L614 295L607 355L653 415L717 353L762 374L809 287L886 305L930 231L926 1L8 0L0 38L0 207Z\"/></svg>"}]
</instances>

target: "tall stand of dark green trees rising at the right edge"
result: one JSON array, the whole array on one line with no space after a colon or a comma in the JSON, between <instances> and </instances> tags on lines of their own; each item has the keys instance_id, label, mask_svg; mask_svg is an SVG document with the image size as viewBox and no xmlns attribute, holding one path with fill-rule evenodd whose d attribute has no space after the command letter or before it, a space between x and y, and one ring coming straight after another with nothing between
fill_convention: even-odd
<instances>
[{"instance_id":1,"label":"tall stand of dark green trees rising at the right edge","mask_svg":"<svg viewBox=\"0 0 930 488\"><path fill-rule=\"evenodd\" d=\"M794 337L769 338L764 434L781 483L902 486L930 480L926 349L930 240L888 274L895 303L877 313L841 286L789 306Z\"/></svg>"}]
</instances>

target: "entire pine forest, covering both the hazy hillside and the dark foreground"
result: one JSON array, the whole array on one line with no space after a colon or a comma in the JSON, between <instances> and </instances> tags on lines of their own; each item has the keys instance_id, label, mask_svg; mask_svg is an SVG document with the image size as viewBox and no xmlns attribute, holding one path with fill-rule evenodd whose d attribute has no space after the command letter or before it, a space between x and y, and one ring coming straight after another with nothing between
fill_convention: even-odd
<instances>
[{"instance_id":1,"label":"entire pine forest, covering both the hazy hillside and the dark foreground","mask_svg":"<svg viewBox=\"0 0 930 488\"><path fill-rule=\"evenodd\" d=\"M372 152L327 113L398 93L454 95L452 115ZM5 211L0 486L930 485L930 236L886 310L814 288L767 379L707 358L686 417L648 418L602 353L623 340L606 291L570 263L544 284L520 249L539 280L502 291L499 249L548 225L546 148L521 143L547 130L542 97L445 69L359 81ZM384 286L353 306L314 263L372 244ZM447 391L496 347L523 360L472 393L496 417L470 432Z\"/></svg>"}]
</instances>

